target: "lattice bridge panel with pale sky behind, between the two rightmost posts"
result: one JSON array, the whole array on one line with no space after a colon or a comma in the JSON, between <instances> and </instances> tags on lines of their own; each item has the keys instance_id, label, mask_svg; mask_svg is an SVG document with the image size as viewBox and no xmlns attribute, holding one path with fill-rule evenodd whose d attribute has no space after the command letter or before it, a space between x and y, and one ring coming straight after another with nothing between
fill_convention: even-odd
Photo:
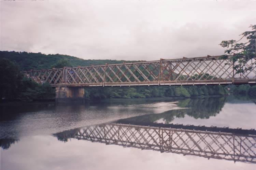
<instances>
[{"instance_id":1,"label":"lattice bridge panel with pale sky behind, between the two rightmost posts","mask_svg":"<svg viewBox=\"0 0 256 170\"><path fill-rule=\"evenodd\" d=\"M228 59L161 61L161 81L229 80L232 76L232 65Z\"/></svg>"}]
</instances>

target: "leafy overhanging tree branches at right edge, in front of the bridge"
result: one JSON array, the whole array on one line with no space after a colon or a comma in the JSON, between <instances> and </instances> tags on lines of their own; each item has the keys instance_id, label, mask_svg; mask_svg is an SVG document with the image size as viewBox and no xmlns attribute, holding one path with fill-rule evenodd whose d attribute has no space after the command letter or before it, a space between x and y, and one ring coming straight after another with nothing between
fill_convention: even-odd
<instances>
[{"instance_id":1,"label":"leafy overhanging tree branches at right edge, in front of the bridge","mask_svg":"<svg viewBox=\"0 0 256 170\"><path fill-rule=\"evenodd\" d=\"M221 45L225 50L225 55L221 58L226 59L228 55L233 54L230 58L231 63L236 64L233 66L233 69L237 73L244 73L247 70L252 70L255 66L255 38L256 38L256 25L251 25L249 28L252 28L252 31L245 31L240 34L242 36L238 41L236 40L225 40L222 41ZM239 41L247 39L245 43L239 43ZM251 61L251 63L249 62ZM250 63L249 65L246 65ZM226 63L227 64L227 63Z\"/></svg>"}]
</instances>

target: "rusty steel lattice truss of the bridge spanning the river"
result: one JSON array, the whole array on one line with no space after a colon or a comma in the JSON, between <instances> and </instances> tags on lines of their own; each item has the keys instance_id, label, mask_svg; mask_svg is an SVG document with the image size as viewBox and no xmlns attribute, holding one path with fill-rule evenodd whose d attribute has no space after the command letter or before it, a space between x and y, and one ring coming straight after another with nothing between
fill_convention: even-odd
<instances>
[{"instance_id":1,"label":"rusty steel lattice truss of the bridge spanning the river","mask_svg":"<svg viewBox=\"0 0 256 170\"><path fill-rule=\"evenodd\" d=\"M256 83L255 61L247 63L245 73L236 74L230 57L221 56L105 64L22 73L38 83L52 86L133 86Z\"/></svg>"}]
</instances>

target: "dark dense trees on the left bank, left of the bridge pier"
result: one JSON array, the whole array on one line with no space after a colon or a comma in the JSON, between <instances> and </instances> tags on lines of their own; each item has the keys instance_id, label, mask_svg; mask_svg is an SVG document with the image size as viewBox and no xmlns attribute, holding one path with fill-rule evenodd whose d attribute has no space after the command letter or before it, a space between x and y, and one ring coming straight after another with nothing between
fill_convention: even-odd
<instances>
[{"instance_id":1,"label":"dark dense trees on the left bank, left of the bridge pier","mask_svg":"<svg viewBox=\"0 0 256 170\"><path fill-rule=\"evenodd\" d=\"M18 66L0 58L0 99L34 101L54 99L54 89L48 83L38 84L17 74Z\"/></svg>"}]
</instances>

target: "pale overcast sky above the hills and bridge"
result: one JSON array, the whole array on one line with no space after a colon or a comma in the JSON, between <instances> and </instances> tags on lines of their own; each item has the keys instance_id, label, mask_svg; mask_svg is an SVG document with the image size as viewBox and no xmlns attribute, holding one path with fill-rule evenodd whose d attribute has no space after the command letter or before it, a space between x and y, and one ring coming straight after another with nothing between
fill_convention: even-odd
<instances>
[{"instance_id":1,"label":"pale overcast sky above the hills and bridge","mask_svg":"<svg viewBox=\"0 0 256 170\"><path fill-rule=\"evenodd\" d=\"M221 55L256 24L256 1L0 1L1 50L84 59Z\"/></svg>"}]
</instances>

